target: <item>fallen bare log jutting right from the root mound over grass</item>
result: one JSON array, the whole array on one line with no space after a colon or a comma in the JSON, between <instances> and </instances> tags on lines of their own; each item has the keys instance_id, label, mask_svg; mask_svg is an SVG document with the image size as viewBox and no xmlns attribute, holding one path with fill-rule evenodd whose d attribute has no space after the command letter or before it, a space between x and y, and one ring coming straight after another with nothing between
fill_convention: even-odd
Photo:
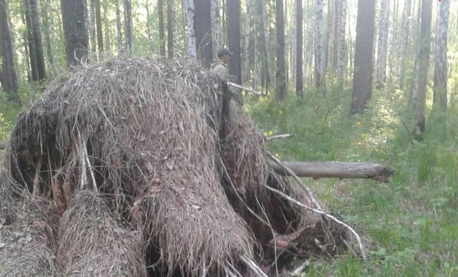
<instances>
[{"instance_id":1,"label":"fallen bare log jutting right from the root mound over grass","mask_svg":"<svg viewBox=\"0 0 458 277\"><path fill-rule=\"evenodd\" d=\"M349 163L349 162L315 162L315 161L283 161L299 177L338 178L338 179L374 179L387 183L394 174L393 168L380 163ZM287 172L276 163L270 166L280 175Z\"/></svg>"}]
</instances>

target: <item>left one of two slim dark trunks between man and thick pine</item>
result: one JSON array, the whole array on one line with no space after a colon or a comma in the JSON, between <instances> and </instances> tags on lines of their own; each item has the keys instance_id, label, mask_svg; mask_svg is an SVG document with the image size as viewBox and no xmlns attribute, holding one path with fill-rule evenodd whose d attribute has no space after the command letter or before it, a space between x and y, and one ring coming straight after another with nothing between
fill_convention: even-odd
<instances>
[{"instance_id":1,"label":"left one of two slim dark trunks between man and thick pine","mask_svg":"<svg viewBox=\"0 0 458 277\"><path fill-rule=\"evenodd\" d=\"M285 99L287 83L285 78L285 14L283 0L275 1L275 26L277 27L277 71L275 72L275 99Z\"/></svg>"}]
</instances>

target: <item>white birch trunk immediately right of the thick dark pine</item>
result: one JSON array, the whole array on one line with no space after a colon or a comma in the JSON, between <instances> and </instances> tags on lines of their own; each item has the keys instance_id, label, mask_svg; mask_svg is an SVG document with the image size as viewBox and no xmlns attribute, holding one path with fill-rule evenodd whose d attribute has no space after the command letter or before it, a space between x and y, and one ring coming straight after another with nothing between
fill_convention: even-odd
<instances>
[{"instance_id":1,"label":"white birch trunk immediately right of the thick dark pine","mask_svg":"<svg viewBox=\"0 0 458 277\"><path fill-rule=\"evenodd\" d=\"M375 79L377 88L382 89L387 77L387 53L389 32L389 0L382 0L378 21L377 71Z\"/></svg>"}]
</instances>

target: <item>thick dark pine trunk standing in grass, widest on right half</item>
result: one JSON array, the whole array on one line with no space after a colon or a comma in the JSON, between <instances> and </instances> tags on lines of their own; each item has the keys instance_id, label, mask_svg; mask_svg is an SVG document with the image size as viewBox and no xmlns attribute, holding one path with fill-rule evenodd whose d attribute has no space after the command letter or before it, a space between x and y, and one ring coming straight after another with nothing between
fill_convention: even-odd
<instances>
[{"instance_id":1,"label":"thick dark pine trunk standing in grass, widest on right half","mask_svg":"<svg viewBox=\"0 0 458 277\"><path fill-rule=\"evenodd\" d=\"M358 0L355 42L355 72L350 113L364 111L372 94L372 55L375 0Z\"/></svg>"}]
</instances>

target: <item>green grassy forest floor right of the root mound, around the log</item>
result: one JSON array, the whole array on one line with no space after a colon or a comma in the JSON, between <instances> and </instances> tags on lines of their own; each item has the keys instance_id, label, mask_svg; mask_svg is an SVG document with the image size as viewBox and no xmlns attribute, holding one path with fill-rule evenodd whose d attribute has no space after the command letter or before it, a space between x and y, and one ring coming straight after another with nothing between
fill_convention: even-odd
<instances>
[{"instance_id":1,"label":"green grassy forest floor right of the root mound, around the log","mask_svg":"<svg viewBox=\"0 0 458 277\"><path fill-rule=\"evenodd\" d=\"M292 94L292 93L291 93ZM350 91L306 93L278 105L250 102L262 132L291 133L269 148L280 159L367 161L396 169L389 184L370 180L304 179L328 211L355 226L367 261L349 254L321 258L303 276L458 276L458 108L427 115L414 140L404 93L374 91L364 114L350 116Z\"/></svg>"}]
</instances>

